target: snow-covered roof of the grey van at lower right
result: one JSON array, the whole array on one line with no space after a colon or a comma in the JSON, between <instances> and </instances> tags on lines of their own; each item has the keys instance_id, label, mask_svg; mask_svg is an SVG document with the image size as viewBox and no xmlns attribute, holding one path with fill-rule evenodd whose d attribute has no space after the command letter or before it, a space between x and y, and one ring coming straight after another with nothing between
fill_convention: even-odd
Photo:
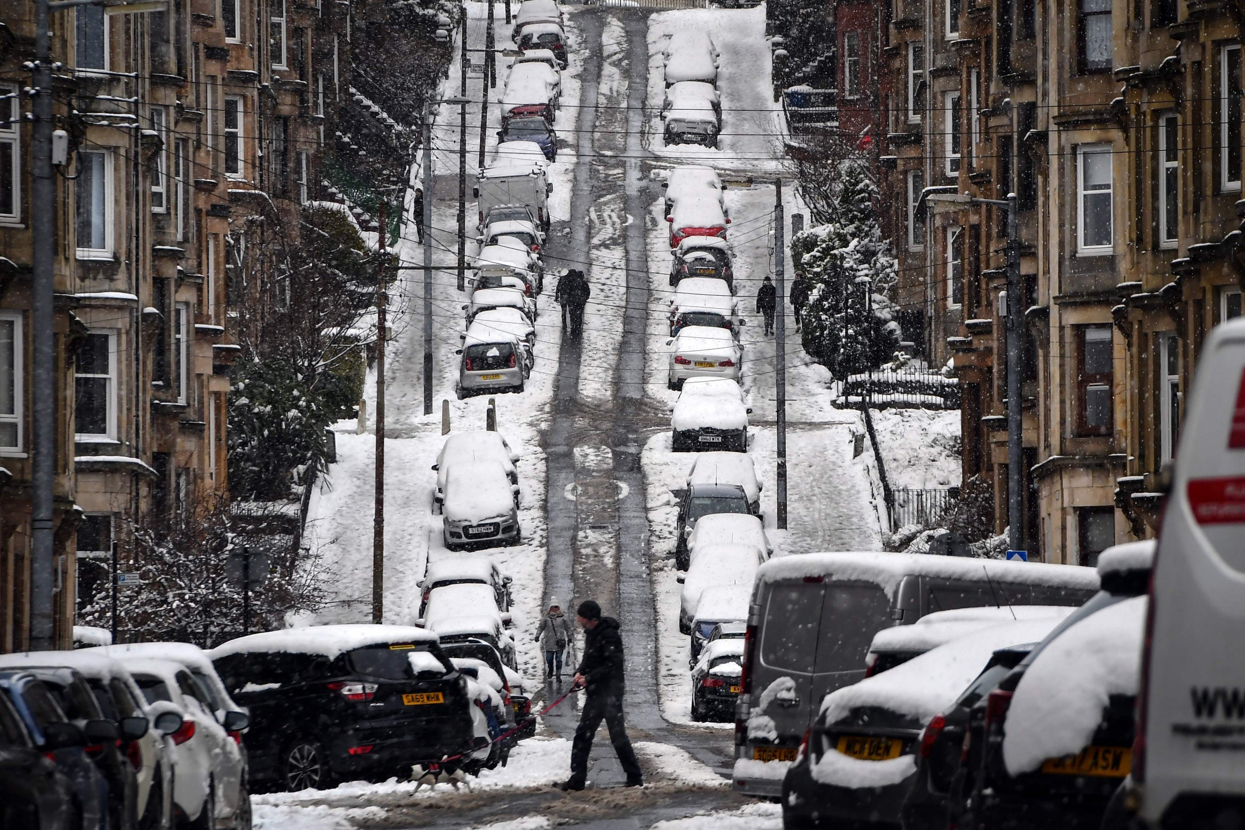
<instances>
[{"instance_id":1,"label":"snow-covered roof of the grey van at lower right","mask_svg":"<svg viewBox=\"0 0 1245 830\"><path fill-rule=\"evenodd\" d=\"M782 556L761 566L757 579L762 582L822 576L830 580L875 582L894 596L899 582L910 574L950 579L980 580L989 576L995 582L1057 585L1096 590L1098 574L1081 565L1046 565L1041 562L1001 561L966 556L931 554L834 553Z\"/></svg>"}]
</instances>

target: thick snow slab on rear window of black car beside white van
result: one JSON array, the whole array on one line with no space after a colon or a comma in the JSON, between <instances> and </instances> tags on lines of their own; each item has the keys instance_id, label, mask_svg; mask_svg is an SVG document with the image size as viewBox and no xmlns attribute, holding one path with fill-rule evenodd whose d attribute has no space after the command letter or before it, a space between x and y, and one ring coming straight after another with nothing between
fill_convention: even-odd
<instances>
[{"instance_id":1,"label":"thick snow slab on rear window of black car beside white van","mask_svg":"<svg viewBox=\"0 0 1245 830\"><path fill-rule=\"evenodd\" d=\"M1137 694L1148 597L1089 615L1028 667L1007 711L1003 763L1020 775L1093 739L1112 694ZM915 661L914 661L915 662Z\"/></svg>"}]
</instances>

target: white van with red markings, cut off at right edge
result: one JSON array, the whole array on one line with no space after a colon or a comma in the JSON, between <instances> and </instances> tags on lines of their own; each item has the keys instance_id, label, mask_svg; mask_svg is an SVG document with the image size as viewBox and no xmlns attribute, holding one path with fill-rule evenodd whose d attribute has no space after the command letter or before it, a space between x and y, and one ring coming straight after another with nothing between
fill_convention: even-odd
<instances>
[{"instance_id":1,"label":"white van with red markings, cut off at right edge","mask_svg":"<svg viewBox=\"0 0 1245 830\"><path fill-rule=\"evenodd\" d=\"M1245 823L1245 320L1216 326L1180 426L1133 749L1147 828Z\"/></svg>"}]
</instances>

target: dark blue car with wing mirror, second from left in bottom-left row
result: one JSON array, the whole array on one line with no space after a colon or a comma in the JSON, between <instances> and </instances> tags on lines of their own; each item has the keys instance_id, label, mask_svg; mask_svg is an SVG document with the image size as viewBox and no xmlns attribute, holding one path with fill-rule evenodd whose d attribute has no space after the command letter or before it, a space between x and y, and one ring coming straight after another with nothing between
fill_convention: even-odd
<instances>
[{"instance_id":1,"label":"dark blue car with wing mirror, second from left in bottom-left row","mask_svg":"<svg viewBox=\"0 0 1245 830\"><path fill-rule=\"evenodd\" d=\"M87 728L71 723L42 681L24 669L0 671L4 693L21 718L35 747L56 763L73 789L72 808L82 830L108 826L108 781L86 755L87 743L117 738L116 728L102 722ZM107 734L106 734L107 732Z\"/></svg>"}]
</instances>

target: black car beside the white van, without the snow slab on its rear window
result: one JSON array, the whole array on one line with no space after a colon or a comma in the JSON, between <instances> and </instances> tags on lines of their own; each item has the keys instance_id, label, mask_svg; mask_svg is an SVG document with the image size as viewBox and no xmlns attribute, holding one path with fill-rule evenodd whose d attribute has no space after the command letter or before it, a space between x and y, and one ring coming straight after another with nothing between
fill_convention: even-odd
<instances>
[{"instance_id":1,"label":"black car beside the white van, without the snow slab on its rear window","mask_svg":"<svg viewBox=\"0 0 1245 830\"><path fill-rule=\"evenodd\" d=\"M1081 758L1052 759L1037 772L1013 776L1003 763L1002 745L1012 694L1038 655L1086 617L1145 595L1149 567L1104 572L1102 561L1098 569L1102 590L1056 626L970 711L969 750L947 800L947 814L961 829L1099 828L1130 765L1134 696L1109 696L1098 729Z\"/></svg>"}]
</instances>

